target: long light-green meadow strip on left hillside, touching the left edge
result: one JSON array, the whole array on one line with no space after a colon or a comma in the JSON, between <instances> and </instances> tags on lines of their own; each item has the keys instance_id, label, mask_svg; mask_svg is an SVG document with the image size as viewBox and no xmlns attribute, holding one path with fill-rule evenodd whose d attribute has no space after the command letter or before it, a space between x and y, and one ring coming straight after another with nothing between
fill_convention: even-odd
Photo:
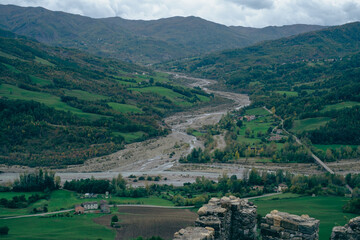
<instances>
[{"instance_id":1,"label":"long light-green meadow strip on left hillside, touching the left edge","mask_svg":"<svg viewBox=\"0 0 360 240\"><path fill-rule=\"evenodd\" d=\"M0 85L0 96L7 97L11 100L16 100L16 99L27 100L27 101L33 100L36 102L43 103L49 107L53 107L57 110L70 111L78 115L79 117L87 118L90 120L96 120L102 117L106 117L93 113L84 113L80 109L71 107L66 103L62 102L60 98L57 96L43 92L29 91L9 84Z\"/></svg>"}]
</instances>

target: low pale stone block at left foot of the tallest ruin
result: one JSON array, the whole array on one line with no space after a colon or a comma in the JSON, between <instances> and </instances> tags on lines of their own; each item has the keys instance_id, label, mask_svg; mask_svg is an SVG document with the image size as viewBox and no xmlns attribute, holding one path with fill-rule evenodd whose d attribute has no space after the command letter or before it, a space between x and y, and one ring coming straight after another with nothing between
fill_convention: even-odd
<instances>
[{"instance_id":1,"label":"low pale stone block at left foot of the tallest ruin","mask_svg":"<svg viewBox=\"0 0 360 240\"><path fill-rule=\"evenodd\" d=\"M187 227L174 234L174 240L214 240L215 230L210 227Z\"/></svg>"}]
</instances>

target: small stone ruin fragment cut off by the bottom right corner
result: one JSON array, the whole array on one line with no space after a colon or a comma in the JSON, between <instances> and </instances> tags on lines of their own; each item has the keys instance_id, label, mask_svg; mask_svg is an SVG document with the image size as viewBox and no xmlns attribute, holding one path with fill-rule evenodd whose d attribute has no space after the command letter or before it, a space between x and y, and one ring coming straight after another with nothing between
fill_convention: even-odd
<instances>
[{"instance_id":1,"label":"small stone ruin fragment cut off by the bottom right corner","mask_svg":"<svg viewBox=\"0 0 360 240\"><path fill-rule=\"evenodd\" d=\"M331 240L360 240L360 217L351 219L343 227L334 227Z\"/></svg>"}]
</instances>

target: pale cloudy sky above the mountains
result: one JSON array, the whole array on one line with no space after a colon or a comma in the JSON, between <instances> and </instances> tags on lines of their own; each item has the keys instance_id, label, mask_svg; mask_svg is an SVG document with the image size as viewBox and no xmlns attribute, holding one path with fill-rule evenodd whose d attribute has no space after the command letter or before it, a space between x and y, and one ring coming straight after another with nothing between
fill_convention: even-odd
<instances>
[{"instance_id":1,"label":"pale cloudy sky above the mountains","mask_svg":"<svg viewBox=\"0 0 360 240\"><path fill-rule=\"evenodd\" d=\"M225 25L339 25L360 20L360 0L0 0L89 17L159 19L198 16Z\"/></svg>"}]
</instances>

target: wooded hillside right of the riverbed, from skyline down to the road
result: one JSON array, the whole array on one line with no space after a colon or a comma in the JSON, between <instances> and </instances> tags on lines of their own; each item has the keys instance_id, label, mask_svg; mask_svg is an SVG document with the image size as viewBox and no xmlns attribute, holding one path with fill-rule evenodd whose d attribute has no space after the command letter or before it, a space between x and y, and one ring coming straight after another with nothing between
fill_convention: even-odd
<instances>
[{"instance_id":1,"label":"wooded hillside right of the riverbed, from skyline down to the road","mask_svg":"<svg viewBox=\"0 0 360 240\"><path fill-rule=\"evenodd\" d=\"M273 109L286 129L319 149L341 148L320 152L322 159L351 158L360 144L359 39L355 22L166 67L219 79L249 93L252 107ZM352 147L345 153L347 145Z\"/></svg>"}]
</instances>

